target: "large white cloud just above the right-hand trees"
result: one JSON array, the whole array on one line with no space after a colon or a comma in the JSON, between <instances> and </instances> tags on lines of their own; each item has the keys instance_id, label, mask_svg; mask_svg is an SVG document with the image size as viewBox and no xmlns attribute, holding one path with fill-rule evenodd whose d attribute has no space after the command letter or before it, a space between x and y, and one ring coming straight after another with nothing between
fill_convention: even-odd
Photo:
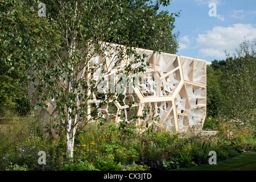
<instances>
[{"instance_id":1,"label":"large white cloud just above the right-hand trees","mask_svg":"<svg viewBox=\"0 0 256 182\"><path fill-rule=\"evenodd\" d=\"M225 50L233 53L244 40L256 39L256 26L253 24L233 24L229 27L214 27L206 34L199 34L197 47L199 56L213 56L225 59Z\"/></svg>"}]
</instances>

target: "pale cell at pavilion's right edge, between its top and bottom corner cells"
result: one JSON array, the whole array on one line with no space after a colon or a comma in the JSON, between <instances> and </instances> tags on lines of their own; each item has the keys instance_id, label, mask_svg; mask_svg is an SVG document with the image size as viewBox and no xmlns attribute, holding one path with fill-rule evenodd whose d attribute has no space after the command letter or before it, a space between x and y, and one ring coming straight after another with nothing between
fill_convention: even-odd
<instances>
[{"instance_id":1,"label":"pale cell at pavilion's right edge, between its top and bottom corner cells","mask_svg":"<svg viewBox=\"0 0 256 182\"><path fill-rule=\"evenodd\" d=\"M188 98L191 107L206 105L206 88L186 83Z\"/></svg>"}]
</instances>

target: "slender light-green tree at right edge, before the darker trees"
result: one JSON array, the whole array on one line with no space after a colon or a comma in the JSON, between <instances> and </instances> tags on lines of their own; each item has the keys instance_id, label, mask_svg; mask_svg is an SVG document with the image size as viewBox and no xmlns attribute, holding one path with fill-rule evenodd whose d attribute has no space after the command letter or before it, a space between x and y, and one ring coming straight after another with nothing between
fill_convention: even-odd
<instances>
[{"instance_id":1,"label":"slender light-green tree at right edge, before the darker trees","mask_svg":"<svg viewBox=\"0 0 256 182\"><path fill-rule=\"evenodd\" d=\"M255 74L256 55L255 40L253 43L245 40L236 53L228 53L223 79L222 93L225 101L222 113L229 118L248 122L255 119Z\"/></svg>"}]
</instances>

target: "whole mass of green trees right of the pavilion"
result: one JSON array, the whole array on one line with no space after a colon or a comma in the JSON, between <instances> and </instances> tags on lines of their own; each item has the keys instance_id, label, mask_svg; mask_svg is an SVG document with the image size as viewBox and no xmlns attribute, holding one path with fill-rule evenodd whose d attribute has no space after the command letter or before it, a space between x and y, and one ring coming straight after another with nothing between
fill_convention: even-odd
<instances>
[{"instance_id":1,"label":"whole mass of green trees right of the pavilion","mask_svg":"<svg viewBox=\"0 0 256 182\"><path fill-rule=\"evenodd\" d=\"M207 65L207 115L255 123L255 40Z\"/></svg>"}]
</instances>

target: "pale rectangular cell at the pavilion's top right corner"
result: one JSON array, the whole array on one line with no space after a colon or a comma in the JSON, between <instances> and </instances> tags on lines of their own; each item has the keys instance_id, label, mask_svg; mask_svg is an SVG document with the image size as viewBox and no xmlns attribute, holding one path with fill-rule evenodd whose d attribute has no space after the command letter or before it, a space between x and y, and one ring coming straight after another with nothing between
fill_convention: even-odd
<instances>
[{"instance_id":1,"label":"pale rectangular cell at the pavilion's top right corner","mask_svg":"<svg viewBox=\"0 0 256 182\"><path fill-rule=\"evenodd\" d=\"M195 60L193 82L206 85L206 61Z\"/></svg>"}]
</instances>

